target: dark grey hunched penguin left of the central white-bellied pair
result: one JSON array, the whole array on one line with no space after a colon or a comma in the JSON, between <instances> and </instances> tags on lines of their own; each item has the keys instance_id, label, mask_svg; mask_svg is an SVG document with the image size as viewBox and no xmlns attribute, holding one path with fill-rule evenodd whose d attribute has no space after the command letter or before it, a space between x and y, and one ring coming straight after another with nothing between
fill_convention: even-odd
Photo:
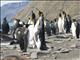
<instances>
[{"instance_id":1,"label":"dark grey hunched penguin left of the central white-bellied pair","mask_svg":"<svg viewBox=\"0 0 80 60\"><path fill-rule=\"evenodd\" d=\"M18 40L21 51L26 52L28 47L28 29L26 27L18 27L15 30L16 39Z\"/></svg>"}]
</instances>

